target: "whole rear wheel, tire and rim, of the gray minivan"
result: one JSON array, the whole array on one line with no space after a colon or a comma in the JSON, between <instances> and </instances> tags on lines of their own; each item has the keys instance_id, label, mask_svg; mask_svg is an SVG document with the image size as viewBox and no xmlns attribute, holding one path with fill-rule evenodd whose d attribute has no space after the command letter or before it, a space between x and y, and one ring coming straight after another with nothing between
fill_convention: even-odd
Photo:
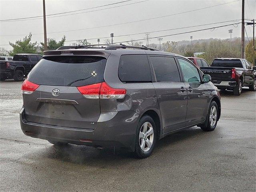
<instances>
[{"instance_id":1,"label":"whole rear wheel, tire and rim, of the gray minivan","mask_svg":"<svg viewBox=\"0 0 256 192\"><path fill-rule=\"evenodd\" d=\"M146 158L152 154L156 144L156 134L156 124L152 117L148 115L142 116L136 129L135 138L134 154L138 158ZM150 144L151 146L149 147Z\"/></svg>"}]
</instances>

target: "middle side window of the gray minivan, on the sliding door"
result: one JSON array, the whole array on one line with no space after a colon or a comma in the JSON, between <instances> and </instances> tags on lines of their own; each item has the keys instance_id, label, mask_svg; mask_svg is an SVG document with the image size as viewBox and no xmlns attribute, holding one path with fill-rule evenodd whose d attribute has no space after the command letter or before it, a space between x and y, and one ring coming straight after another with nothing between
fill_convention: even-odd
<instances>
[{"instance_id":1,"label":"middle side window of the gray minivan, on the sliding door","mask_svg":"<svg viewBox=\"0 0 256 192\"><path fill-rule=\"evenodd\" d=\"M150 56L157 82L180 82L180 74L172 57Z\"/></svg>"}]
</instances>

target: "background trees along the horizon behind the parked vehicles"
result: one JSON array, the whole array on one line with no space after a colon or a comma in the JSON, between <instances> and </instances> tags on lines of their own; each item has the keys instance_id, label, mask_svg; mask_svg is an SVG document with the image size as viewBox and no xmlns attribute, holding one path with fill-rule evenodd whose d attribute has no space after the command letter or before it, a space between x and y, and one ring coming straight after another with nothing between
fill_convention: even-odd
<instances>
[{"instance_id":1,"label":"background trees along the horizon behind the parked vehicles","mask_svg":"<svg viewBox=\"0 0 256 192\"><path fill-rule=\"evenodd\" d=\"M16 42L9 42L12 46L12 51L7 52L3 48L0 48L1 55L10 55L18 53L31 53L31 54L42 54L44 50L44 43L31 42L32 34L25 36L22 40L16 40ZM48 50L56 50L60 46L64 46L66 36L63 36L60 41L56 41L55 38L47 39ZM110 39L105 39L106 44L111 44ZM86 39L79 42L81 45L88 45ZM128 42L129 45L141 46L138 41L131 40ZM206 39L206 40L194 40L192 44L190 41L167 41L161 45L151 43L148 47L158 48L165 52L172 52L183 56L194 56L194 53L201 53L197 57L204 58L208 63L211 63L214 58L240 58L241 56L241 38L233 38L231 42L232 48L230 51L230 39ZM246 41L245 58L252 62L252 40ZM255 54L256 58L256 54Z\"/></svg>"}]
</instances>

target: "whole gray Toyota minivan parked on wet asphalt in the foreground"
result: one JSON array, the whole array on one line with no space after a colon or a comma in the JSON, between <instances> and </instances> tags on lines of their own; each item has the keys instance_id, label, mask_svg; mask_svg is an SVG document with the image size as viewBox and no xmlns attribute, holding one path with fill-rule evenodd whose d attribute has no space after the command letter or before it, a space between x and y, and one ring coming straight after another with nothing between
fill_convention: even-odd
<instances>
[{"instance_id":1,"label":"whole gray Toyota minivan parked on wet asphalt in the foreground","mask_svg":"<svg viewBox=\"0 0 256 192\"><path fill-rule=\"evenodd\" d=\"M140 158L156 140L192 126L212 131L220 118L209 75L183 56L143 46L46 51L22 93L25 135L56 145L127 148Z\"/></svg>"}]
</instances>

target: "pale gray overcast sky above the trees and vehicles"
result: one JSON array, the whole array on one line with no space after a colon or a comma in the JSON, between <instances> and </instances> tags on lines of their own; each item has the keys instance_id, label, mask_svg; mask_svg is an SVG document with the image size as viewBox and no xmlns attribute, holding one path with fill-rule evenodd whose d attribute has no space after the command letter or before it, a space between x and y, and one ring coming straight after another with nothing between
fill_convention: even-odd
<instances>
[{"instance_id":1,"label":"pale gray overcast sky above the trees and vehicles","mask_svg":"<svg viewBox=\"0 0 256 192\"><path fill-rule=\"evenodd\" d=\"M116 2L122 2L124 0L45 0L46 1L46 15L56 14L60 12L69 12L74 10L92 8L96 6L102 6L106 4L112 4ZM119 4L110 6L103 6L100 8L88 9L79 12L81 13L68 16L60 16L54 18L47 18L47 37L56 38L60 40L62 36L66 36L66 40L77 39L90 39L108 37L110 33L114 33L114 36L152 32L156 30L166 30L173 28L181 28L187 26L195 26L201 24L210 24L214 22L224 22L229 20L238 20L241 18L241 5L242 0L130 0ZM224 4L231 2L229 4ZM130 5L126 5L130 4ZM215 6L218 4L224 4ZM126 6L123 6L126 5ZM111 8L119 6L116 8ZM202 10L196 10L188 13L182 13L190 10L205 8L209 6L215 6L212 8L206 8ZM106 9L109 8L109 9ZM99 10L105 9L105 10ZM98 11L94 11L98 10ZM88 12L93 11L93 12ZM24 18L41 16L43 14L42 0L0 0L0 20L7 20L13 18ZM70 13L69 13L70 14ZM176 14L172 16L167 16ZM58 15L59 16L59 15ZM138 20L145 20L148 18L161 17L146 21L133 22L129 24L120 24L125 22L132 22ZM256 0L245 0L245 18L256 19ZM240 22L240 21L236 21ZM152 32L150 37L164 36L168 34L176 34L181 32L188 32L192 30L199 30L204 28L210 28L214 26L222 26L226 24L232 24L235 22L226 22L221 24L212 24L207 26L170 30L165 32ZM120 24L120 25L114 25ZM114 25L107 27L106 25ZM93 28L86 30L78 30L84 28ZM213 31L206 30L201 32L191 32L188 34L180 34L175 36L163 37L163 42L166 41L179 41L190 40L190 36L193 36L193 40L205 39L205 38L229 38L228 30L233 29L232 36L241 36L241 25L226 26L218 28ZM71 32L61 32L67 30L78 30ZM248 36L252 37L252 27L246 26ZM8 42L15 42L17 39L21 39L25 34L32 32L32 41L42 42L43 36L43 20L24 20L14 22L0 22L0 47L10 50L10 46L4 45ZM58 33L52 33L58 32ZM18 36L16 36L18 35ZM145 34L137 34L130 36L114 37L114 42L122 42L131 39L143 39ZM247 37L246 37L247 38ZM141 40L140 40L141 41ZM74 41L75 42L75 41ZM97 40L89 40L92 44L97 44ZM101 43L104 43L104 39L100 39ZM66 42L65 45L69 45L72 42ZM156 39L151 39L150 43L158 43ZM146 44L146 41L144 41Z\"/></svg>"}]
</instances>

